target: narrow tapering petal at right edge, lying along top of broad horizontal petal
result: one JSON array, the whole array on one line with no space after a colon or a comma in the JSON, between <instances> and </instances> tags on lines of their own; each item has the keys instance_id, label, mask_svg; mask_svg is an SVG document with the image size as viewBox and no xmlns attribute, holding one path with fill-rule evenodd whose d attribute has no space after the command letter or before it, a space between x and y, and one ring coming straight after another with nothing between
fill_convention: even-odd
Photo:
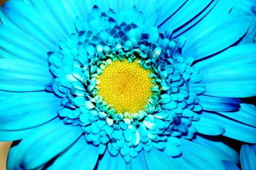
<instances>
[{"instance_id":1,"label":"narrow tapering petal at right edge, lying along top of broad horizontal petal","mask_svg":"<svg viewBox=\"0 0 256 170\"><path fill-rule=\"evenodd\" d=\"M252 64L256 62L255 55L255 44L232 46L214 57L196 63L193 67L204 71L212 67L227 66L227 64L230 66Z\"/></svg>"}]
</instances>

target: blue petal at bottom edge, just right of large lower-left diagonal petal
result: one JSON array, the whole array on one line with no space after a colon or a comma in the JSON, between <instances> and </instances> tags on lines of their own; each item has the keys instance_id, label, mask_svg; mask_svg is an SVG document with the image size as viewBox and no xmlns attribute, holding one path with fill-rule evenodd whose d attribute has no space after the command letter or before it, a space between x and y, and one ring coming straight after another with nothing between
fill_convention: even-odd
<instances>
[{"instance_id":1,"label":"blue petal at bottom edge, just right of large lower-left diagonal petal","mask_svg":"<svg viewBox=\"0 0 256 170\"><path fill-rule=\"evenodd\" d=\"M61 155L52 164L52 169L93 169L99 157L98 148L85 141L81 136L74 145ZM72 160L70 160L72 159Z\"/></svg>"}]
</instances>

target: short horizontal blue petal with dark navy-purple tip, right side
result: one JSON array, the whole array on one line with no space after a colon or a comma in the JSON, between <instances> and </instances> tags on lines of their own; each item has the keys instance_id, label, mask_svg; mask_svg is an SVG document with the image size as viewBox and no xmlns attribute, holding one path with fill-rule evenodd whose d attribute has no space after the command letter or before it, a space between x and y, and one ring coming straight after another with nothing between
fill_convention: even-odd
<instances>
[{"instance_id":1,"label":"short horizontal blue petal with dark navy-purple tip, right side","mask_svg":"<svg viewBox=\"0 0 256 170\"><path fill-rule=\"evenodd\" d=\"M209 111L234 111L240 108L240 101L236 98L212 97L200 95L200 105Z\"/></svg>"}]
</instances>

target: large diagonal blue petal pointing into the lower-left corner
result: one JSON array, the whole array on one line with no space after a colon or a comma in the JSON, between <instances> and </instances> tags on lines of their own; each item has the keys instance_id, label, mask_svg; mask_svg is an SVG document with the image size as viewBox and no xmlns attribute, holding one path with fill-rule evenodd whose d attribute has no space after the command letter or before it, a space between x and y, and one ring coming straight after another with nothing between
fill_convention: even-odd
<instances>
[{"instance_id":1,"label":"large diagonal blue petal pointing into the lower-left corner","mask_svg":"<svg viewBox=\"0 0 256 170\"><path fill-rule=\"evenodd\" d=\"M40 167L72 145L81 134L81 127L65 125L58 119L53 120L22 139L17 146L19 154L13 155L15 164L24 169Z\"/></svg>"}]
</instances>

